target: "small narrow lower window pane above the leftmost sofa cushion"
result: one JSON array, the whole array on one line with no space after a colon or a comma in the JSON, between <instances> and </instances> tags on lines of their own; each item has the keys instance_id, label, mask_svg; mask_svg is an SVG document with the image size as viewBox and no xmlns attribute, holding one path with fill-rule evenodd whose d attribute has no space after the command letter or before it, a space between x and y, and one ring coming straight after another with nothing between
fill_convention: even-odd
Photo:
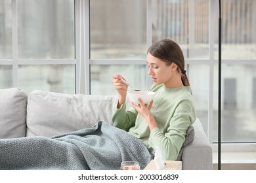
<instances>
[{"instance_id":1,"label":"small narrow lower window pane above the leftmost sofa cushion","mask_svg":"<svg viewBox=\"0 0 256 183\"><path fill-rule=\"evenodd\" d=\"M0 88L12 88L11 65L0 65Z\"/></svg>"}]
</instances>

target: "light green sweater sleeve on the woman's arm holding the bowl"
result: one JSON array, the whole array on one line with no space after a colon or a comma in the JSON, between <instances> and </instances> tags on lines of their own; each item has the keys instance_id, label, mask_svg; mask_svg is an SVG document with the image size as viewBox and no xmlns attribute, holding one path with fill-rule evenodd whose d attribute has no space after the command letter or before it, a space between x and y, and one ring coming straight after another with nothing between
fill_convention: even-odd
<instances>
[{"instance_id":1,"label":"light green sweater sleeve on the woman's arm holding the bowl","mask_svg":"<svg viewBox=\"0 0 256 183\"><path fill-rule=\"evenodd\" d=\"M186 130L196 119L194 107L188 101L181 101L169 121L167 132L156 127L150 133L151 146L160 148L163 159L175 160L179 155L181 146L185 141Z\"/></svg>"}]
</instances>

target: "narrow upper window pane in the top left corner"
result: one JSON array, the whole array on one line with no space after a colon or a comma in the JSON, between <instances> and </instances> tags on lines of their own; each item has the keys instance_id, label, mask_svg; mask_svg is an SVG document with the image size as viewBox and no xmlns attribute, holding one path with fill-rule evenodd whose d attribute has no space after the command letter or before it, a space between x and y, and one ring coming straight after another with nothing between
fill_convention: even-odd
<instances>
[{"instance_id":1,"label":"narrow upper window pane in the top left corner","mask_svg":"<svg viewBox=\"0 0 256 183\"><path fill-rule=\"evenodd\" d=\"M0 59L12 58L11 0L0 1Z\"/></svg>"}]
</instances>

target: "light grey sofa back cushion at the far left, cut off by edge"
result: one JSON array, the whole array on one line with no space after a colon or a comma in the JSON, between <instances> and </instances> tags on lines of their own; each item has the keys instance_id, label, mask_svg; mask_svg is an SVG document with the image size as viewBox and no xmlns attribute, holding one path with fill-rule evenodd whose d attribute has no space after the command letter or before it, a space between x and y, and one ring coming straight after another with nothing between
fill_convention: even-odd
<instances>
[{"instance_id":1,"label":"light grey sofa back cushion at the far left, cut off by edge","mask_svg":"<svg viewBox=\"0 0 256 183\"><path fill-rule=\"evenodd\" d=\"M0 90L0 139L26 136L27 99L19 88Z\"/></svg>"}]
</instances>

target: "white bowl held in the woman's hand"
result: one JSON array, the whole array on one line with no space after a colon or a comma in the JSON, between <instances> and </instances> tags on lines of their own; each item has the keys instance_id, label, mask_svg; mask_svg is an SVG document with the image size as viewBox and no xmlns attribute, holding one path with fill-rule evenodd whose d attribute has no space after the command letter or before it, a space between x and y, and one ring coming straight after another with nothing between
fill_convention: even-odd
<instances>
[{"instance_id":1,"label":"white bowl held in the woman's hand","mask_svg":"<svg viewBox=\"0 0 256 183\"><path fill-rule=\"evenodd\" d=\"M127 95L132 103L139 103L138 99L141 98L144 104L149 104L154 96L155 92L148 91L128 91Z\"/></svg>"}]
</instances>

